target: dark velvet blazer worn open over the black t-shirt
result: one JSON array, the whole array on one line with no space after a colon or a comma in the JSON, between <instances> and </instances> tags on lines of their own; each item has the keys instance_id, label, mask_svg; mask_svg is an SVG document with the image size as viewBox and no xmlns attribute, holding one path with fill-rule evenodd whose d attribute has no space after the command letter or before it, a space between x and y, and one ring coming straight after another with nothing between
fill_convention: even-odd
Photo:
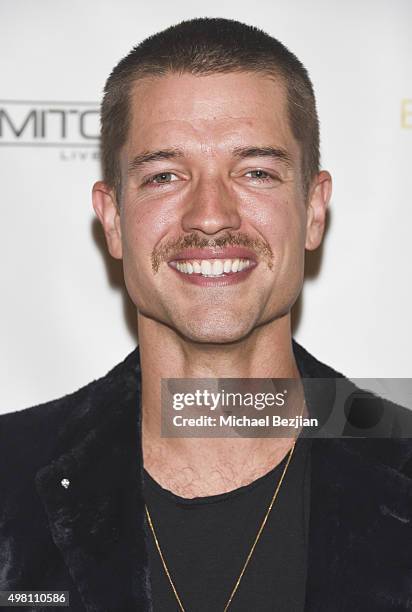
<instances>
[{"instance_id":1,"label":"dark velvet blazer worn open over the black t-shirt","mask_svg":"<svg viewBox=\"0 0 412 612\"><path fill-rule=\"evenodd\" d=\"M302 376L342 377L294 351ZM0 417L0 590L68 590L75 612L152 609L140 383L136 349L73 394ZM319 410L329 403L322 387ZM411 416L385 410L381 439L312 441L306 612L412 610L412 440L397 437Z\"/></svg>"}]
</instances>

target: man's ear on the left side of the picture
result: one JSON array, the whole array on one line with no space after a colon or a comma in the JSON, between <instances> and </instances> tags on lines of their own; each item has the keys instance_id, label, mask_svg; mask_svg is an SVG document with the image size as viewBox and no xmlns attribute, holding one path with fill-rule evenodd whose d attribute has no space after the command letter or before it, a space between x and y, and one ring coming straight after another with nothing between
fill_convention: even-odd
<instances>
[{"instance_id":1,"label":"man's ear on the left side of the picture","mask_svg":"<svg viewBox=\"0 0 412 612\"><path fill-rule=\"evenodd\" d=\"M114 190L103 181L93 185L93 208L106 236L107 248L115 259L122 259L122 233L120 214Z\"/></svg>"}]
</instances>

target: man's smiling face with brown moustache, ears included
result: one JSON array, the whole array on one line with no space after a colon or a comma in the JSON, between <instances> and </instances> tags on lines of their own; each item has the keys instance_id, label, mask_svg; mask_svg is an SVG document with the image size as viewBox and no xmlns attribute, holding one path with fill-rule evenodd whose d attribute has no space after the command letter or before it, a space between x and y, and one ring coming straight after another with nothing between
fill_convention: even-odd
<instances>
[{"instance_id":1,"label":"man's smiling face with brown moustache, ears included","mask_svg":"<svg viewBox=\"0 0 412 612\"><path fill-rule=\"evenodd\" d=\"M288 316L304 250L322 238L330 177L306 199L281 82L170 74L132 90L122 201L94 208L143 317L197 342L233 342Z\"/></svg>"}]
</instances>

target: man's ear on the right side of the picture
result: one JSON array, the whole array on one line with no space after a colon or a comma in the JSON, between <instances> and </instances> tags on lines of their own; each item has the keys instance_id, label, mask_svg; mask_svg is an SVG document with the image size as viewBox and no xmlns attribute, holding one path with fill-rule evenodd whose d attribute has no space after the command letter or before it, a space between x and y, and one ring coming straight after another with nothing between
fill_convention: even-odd
<instances>
[{"instance_id":1,"label":"man's ear on the right side of the picture","mask_svg":"<svg viewBox=\"0 0 412 612\"><path fill-rule=\"evenodd\" d=\"M308 251L314 251L322 242L331 194L332 177L329 172L322 170L316 175L309 191L305 243Z\"/></svg>"}]
</instances>

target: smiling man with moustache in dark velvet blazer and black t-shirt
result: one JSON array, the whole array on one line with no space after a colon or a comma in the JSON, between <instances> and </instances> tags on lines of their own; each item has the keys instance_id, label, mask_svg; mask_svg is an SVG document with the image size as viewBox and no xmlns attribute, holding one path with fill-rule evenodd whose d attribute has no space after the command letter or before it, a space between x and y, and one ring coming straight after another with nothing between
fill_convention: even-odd
<instances>
[{"instance_id":1,"label":"smiling man with moustache in dark velvet blazer and black t-shirt","mask_svg":"<svg viewBox=\"0 0 412 612\"><path fill-rule=\"evenodd\" d=\"M291 338L331 193L305 68L235 21L171 27L110 75L102 155L139 347L2 418L1 589L89 612L412 609L402 409L348 416L379 440L161 435L162 379L329 379L304 409L330 412L342 375Z\"/></svg>"}]
</instances>

